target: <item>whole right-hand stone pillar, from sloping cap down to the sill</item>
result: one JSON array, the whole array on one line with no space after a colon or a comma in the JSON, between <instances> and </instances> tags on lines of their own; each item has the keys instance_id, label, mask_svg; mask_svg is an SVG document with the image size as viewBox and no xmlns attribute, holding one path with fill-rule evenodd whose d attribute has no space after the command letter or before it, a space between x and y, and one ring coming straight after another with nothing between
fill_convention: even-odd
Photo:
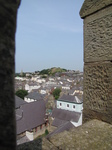
<instances>
[{"instance_id":1,"label":"whole right-hand stone pillar, from sloping cap down to the sill","mask_svg":"<svg viewBox=\"0 0 112 150\"><path fill-rule=\"evenodd\" d=\"M112 124L112 0L85 0L80 15L84 19L83 120Z\"/></svg>"}]
</instances>

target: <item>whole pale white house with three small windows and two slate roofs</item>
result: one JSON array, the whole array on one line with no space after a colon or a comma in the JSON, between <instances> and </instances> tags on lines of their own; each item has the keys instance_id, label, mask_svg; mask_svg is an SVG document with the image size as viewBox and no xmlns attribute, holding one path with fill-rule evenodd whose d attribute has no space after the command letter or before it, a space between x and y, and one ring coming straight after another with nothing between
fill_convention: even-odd
<instances>
[{"instance_id":1,"label":"whole pale white house with three small windows and two slate roofs","mask_svg":"<svg viewBox=\"0 0 112 150\"><path fill-rule=\"evenodd\" d=\"M59 127L63 123L69 122L74 127L78 127L82 125L82 110L83 101L77 96L62 95L56 101L56 108L52 112L52 125Z\"/></svg>"}]
</instances>

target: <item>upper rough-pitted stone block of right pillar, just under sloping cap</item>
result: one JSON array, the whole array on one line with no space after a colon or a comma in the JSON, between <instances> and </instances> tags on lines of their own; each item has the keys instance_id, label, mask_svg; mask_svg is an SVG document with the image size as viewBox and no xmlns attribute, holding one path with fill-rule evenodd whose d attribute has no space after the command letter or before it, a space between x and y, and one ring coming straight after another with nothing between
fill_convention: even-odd
<instances>
[{"instance_id":1,"label":"upper rough-pitted stone block of right pillar, just under sloping cap","mask_svg":"<svg viewBox=\"0 0 112 150\"><path fill-rule=\"evenodd\" d=\"M112 6L84 19L84 62L112 60Z\"/></svg>"}]
</instances>

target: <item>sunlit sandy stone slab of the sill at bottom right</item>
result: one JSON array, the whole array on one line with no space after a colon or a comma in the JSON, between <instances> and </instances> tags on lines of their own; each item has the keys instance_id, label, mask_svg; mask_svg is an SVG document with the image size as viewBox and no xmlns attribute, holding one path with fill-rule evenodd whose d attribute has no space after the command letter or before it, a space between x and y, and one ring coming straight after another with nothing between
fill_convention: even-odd
<instances>
[{"instance_id":1,"label":"sunlit sandy stone slab of the sill at bottom right","mask_svg":"<svg viewBox=\"0 0 112 150\"><path fill-rule=\"evenodd\" d=\"M112 125L92 120L70 132L53 136L50 142L60 150L111 150Z\"/></svg>"}]
</instances>

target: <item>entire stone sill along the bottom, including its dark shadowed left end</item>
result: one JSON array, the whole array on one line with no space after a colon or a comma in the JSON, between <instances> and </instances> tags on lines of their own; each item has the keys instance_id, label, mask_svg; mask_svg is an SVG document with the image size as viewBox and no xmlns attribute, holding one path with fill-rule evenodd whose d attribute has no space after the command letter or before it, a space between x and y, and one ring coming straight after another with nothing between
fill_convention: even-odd
<instances>
[{"instance_id":1,"label":"entire stone sill along the bottom, including its dark shadowed left end","mask_svg":"<svg viewBox=\"0 0 112 150\"><path fill-rule=\"evenodd\" d=\"M111 150L112 125L91 120L69 132L56 134L47 140L37 139L21 144L17 150Z\"/></svg>"}]
</instances>

